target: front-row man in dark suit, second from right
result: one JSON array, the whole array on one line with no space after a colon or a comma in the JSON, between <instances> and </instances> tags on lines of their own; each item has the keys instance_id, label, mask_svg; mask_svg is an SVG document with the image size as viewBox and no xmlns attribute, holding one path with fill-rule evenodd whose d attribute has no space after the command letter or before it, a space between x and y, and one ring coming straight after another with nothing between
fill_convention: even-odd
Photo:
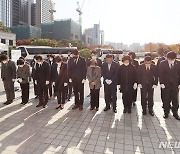
<instances>
[{"instance_id":1,"label":"front-row man in dark suit, second from right","mask_svg":"<svg viewBox=\"0 0 180 154\"><path fill-rule=\"evenodd\" d=\"M158 84L157 68L151 63L151 57L147 56L144 59L144 63L138 68L138 87L141 89L141 105L143 115L147 114L147 102L149 114L154 116L153 111L153 95L154 89Z\"/></svg>"}]
</instances>

